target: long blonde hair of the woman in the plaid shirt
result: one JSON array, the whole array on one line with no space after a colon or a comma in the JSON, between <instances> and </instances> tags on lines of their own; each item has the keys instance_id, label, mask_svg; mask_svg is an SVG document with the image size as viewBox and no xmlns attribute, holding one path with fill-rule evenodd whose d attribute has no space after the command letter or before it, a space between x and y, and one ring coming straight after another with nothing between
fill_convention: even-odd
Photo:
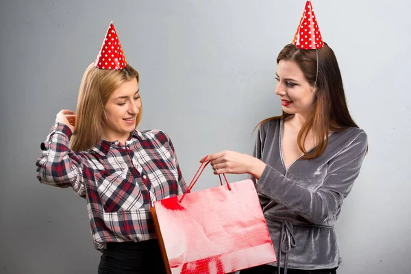
<instances>
[{"instance_id":1,"label":"long blonde hair of the woman in the plaid shirt","mask_svg":"<svg viewBox=\"0 0 411 274\"><path fill-rule=\"evenodd\" d=\"M139 82L138 72L129 65L121 70L98 69L94 63L87 67L79 88L74 132L70 140L73 151L91 149L99 142L105 123L103 105L123 82L134 78ZM136 117L136 127L141 121L141 114L142 108Z\"/></svg>"}]
</instances>

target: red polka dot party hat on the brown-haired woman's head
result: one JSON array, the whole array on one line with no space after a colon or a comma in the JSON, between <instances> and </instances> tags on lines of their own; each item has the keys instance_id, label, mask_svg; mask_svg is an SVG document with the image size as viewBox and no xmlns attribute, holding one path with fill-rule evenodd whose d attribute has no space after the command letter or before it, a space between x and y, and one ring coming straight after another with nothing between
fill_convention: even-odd
<instances>
[{"instance_id":1,"label":"red polka dot party hat on the brown-haired woman's head","mask_svg":"<svg viewBox=\"0 0 411 274\"><path fill-rule=\"evenodd\" d=\"M306 8L303 16L301 16L292 44L299 49L321 49L324 47L323 38L310 0L306 3Z\"/></svg>"}]
</instances>

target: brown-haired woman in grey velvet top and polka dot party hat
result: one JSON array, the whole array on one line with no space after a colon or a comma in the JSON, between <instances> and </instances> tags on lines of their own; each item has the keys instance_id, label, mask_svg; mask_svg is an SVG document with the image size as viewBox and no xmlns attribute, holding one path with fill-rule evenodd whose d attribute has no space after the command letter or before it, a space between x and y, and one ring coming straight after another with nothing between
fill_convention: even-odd
<instances>
[{"instance_id":1,"label":"brown-haired woman in grey velvet top and polka dot party hat","mask_svg":"<svg viewBox=\"0 0 411 274\"><path fill-rule=\"evenodd\" d=\"M258 125L252 156L221 151L207 158L215 174L248 173L256 181L277 262L244 274L336 273L334 225L367 151L366 133L351 119L336 56L321 42L310 1L303 16L297 39L277 58L275 94L283 115Z\"/></svg>"}]
</instances>

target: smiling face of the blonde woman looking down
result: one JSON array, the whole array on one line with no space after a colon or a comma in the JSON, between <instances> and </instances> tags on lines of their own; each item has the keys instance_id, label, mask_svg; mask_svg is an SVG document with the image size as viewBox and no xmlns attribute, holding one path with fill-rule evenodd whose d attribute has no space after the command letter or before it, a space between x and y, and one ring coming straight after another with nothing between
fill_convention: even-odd
<instances>
[{"instance_id":1,"label":"smiling face of the blonde woman looking down","mask_svg":"<svg viewBox=\"0 0 411 274\"><path fill-rule=\"evenodd\" d=\"M137 79L123 82L112 92L104 105L108 123L103 127L103 138L125 143L130 132L136 129L136 117L140 112L141 99Z\"/></svg>"}]
</instances>

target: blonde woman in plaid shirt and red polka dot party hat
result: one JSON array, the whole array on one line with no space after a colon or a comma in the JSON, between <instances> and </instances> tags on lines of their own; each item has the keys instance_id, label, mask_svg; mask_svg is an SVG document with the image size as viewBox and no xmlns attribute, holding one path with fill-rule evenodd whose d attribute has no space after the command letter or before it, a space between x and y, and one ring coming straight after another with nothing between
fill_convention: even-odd
<instances>
[{"instance_id":1,"label":"blonde woman in plaid shirt and red polka dot party hat","mask_svg":"<svg viewBox=\"0 0 411 274\"><path fill-rule=\"evenodd\" d=\"M110 24L84 73L76 114L60 111L36 162L42 184L73 188L87 201L98 273L165 273L151 201L186 190L169 136L140 132L138 72Z\"/></svg>"}]
</instances>

